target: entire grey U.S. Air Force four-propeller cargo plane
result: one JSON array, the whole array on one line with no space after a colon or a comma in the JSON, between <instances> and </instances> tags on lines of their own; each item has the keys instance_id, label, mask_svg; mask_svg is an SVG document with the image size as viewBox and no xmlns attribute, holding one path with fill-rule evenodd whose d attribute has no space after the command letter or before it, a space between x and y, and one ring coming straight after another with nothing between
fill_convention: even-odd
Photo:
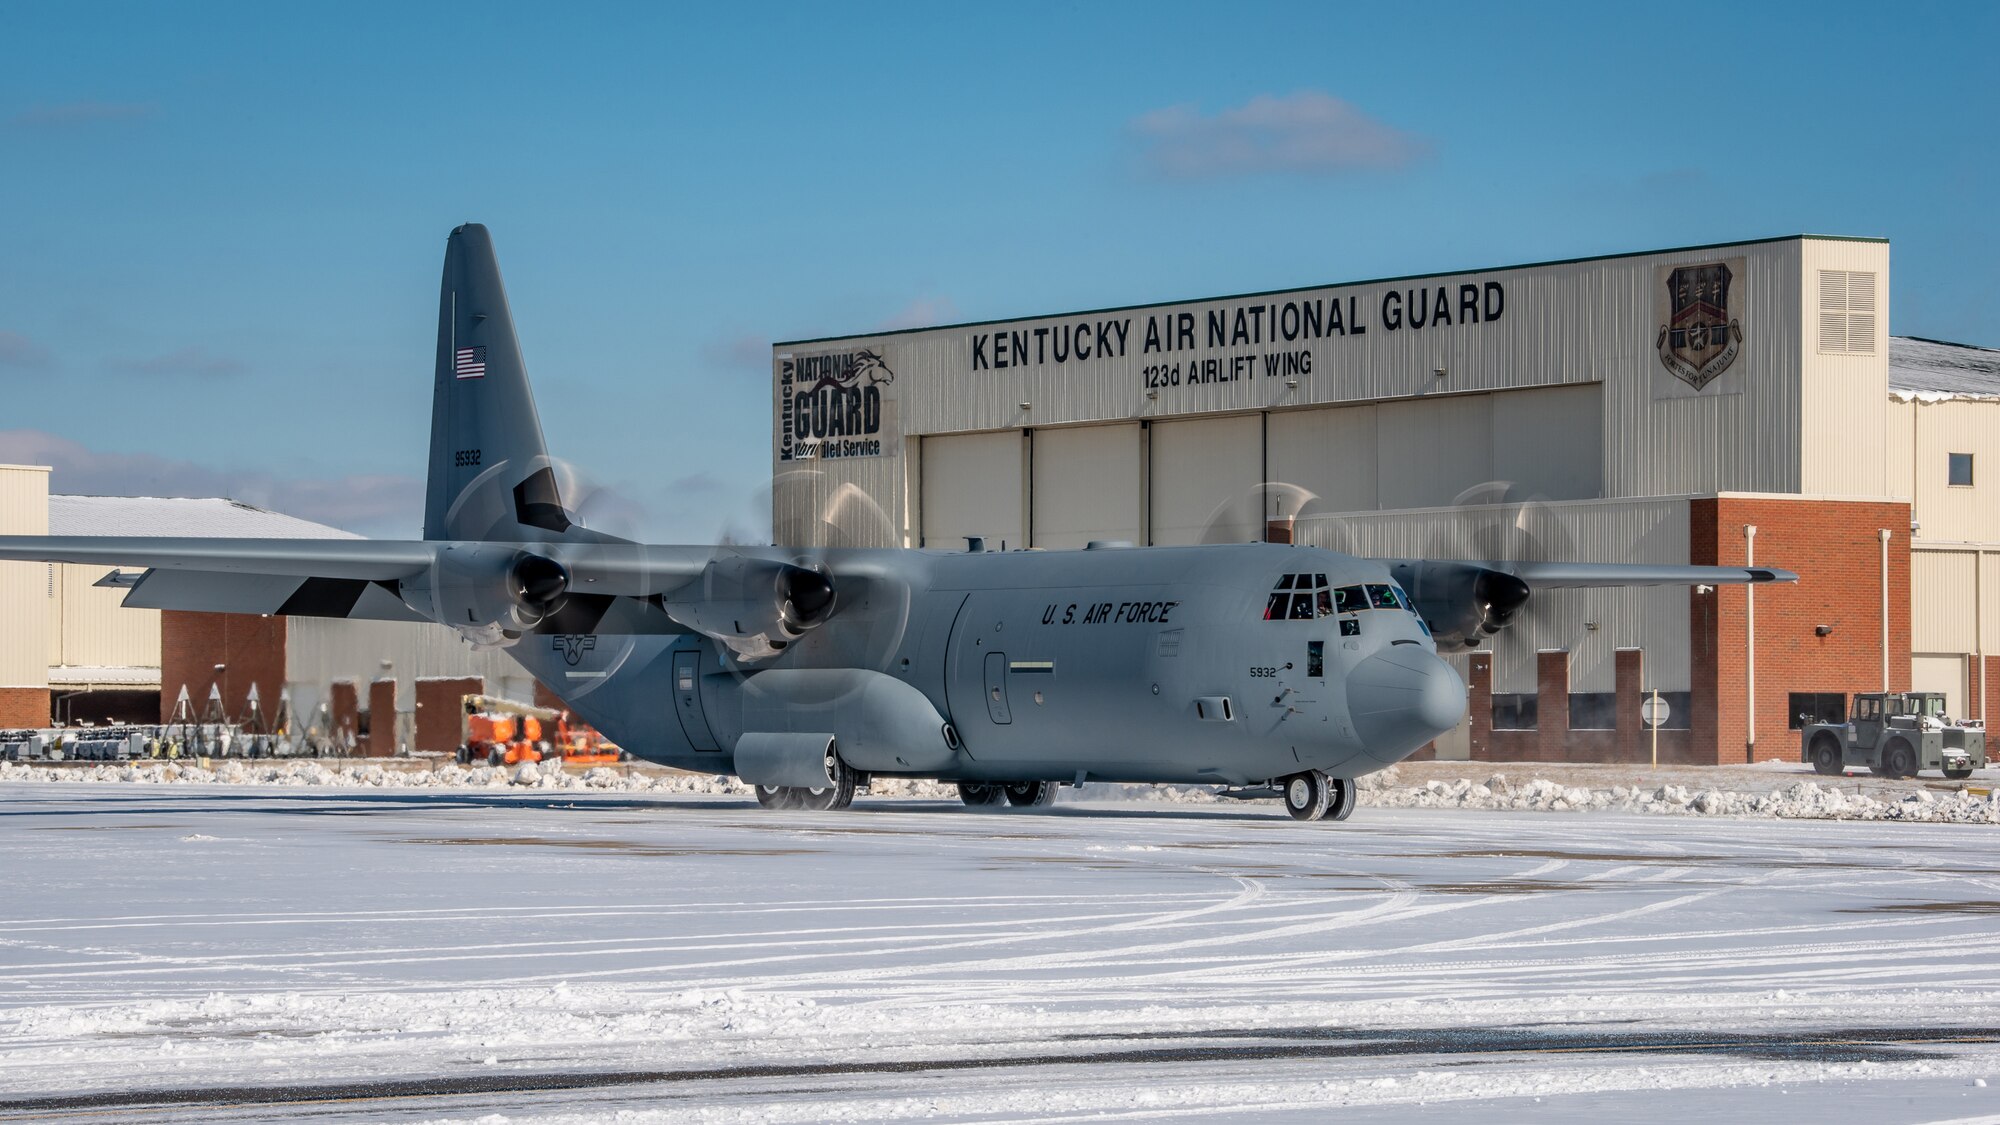
<instances>
[{"instance_id":1,"label":"entire grey U.S. Air Force four-propeller cargo plane","mask_svg":"<svg viewBox=\"0 0 2000 1125\"><path fill-rule=\"evenodd\" d=\"M1438 645L1556 587L1794 581L1772 569L1356 558L1306 546L650 546L564 480L484 226L452 230L422 540L6 536L0 558L144 567L124 605L436 621L506 651L642 759L766 807L872 777L1048 805L1082 781L1276 795L1346 819L1354 779L1454 729Z\"/></svg>"}]
</instances>

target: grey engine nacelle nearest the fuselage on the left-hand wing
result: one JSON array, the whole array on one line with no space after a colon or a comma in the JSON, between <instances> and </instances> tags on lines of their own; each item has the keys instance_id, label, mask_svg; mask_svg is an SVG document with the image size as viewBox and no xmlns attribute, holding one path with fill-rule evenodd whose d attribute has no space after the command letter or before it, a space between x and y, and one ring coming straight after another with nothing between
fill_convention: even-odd
<instances>
[{"instance_id":1,"label":"grey engine nacelle nearest the fuselage on the left-hand wing","mask_svg":"<svg viewBox=\"0 0 2000 1125\"><path fill-rule=\"evenodd\" d=\"M700 581L660 601L668 617L714 637L740 661L776 657L826 625L836 605L826 567L740 556L716 558Z\"/></svg>"}]
</instances>

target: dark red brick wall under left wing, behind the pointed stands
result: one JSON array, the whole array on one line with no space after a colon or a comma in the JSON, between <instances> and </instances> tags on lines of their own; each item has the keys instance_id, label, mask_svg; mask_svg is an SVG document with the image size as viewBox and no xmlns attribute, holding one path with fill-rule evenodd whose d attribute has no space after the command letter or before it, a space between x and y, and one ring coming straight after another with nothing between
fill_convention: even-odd
<instances>
[{"instance_id":1,"label":"dark red brick wall under left wing, behind the pointed stands","mask_svg":"<svg viewBox=\"0 0 2000 1125\"><path fill-rule=\"evenodd\" d=\"M222 673L216 673L222 665ZM250 711L250 685L258 687L264 717L284 691L284 619L242 613L160 611L160 721L174 717L182 685L194 713L202 713L212 685L222 687L222 711L242 719Z\"/></svg>"}]
</instances>

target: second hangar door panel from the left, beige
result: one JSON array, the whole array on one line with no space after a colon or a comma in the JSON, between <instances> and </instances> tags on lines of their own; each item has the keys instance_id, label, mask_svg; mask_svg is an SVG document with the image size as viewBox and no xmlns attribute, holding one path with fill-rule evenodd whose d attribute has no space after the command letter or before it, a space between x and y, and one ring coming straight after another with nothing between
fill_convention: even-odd
<instances>
[{"instance_id":1,"label":"second hangar door panel from the left, beige","mask_svg":"<svg viewBox=\"0 0 2000 1125\"><path fill-rule=\"evenodd\" d=\"M1138 422L1034 430L1030 442L1030 546L1062 550L1092 538L1146 540Z\"/></svg>"}]
</instances>

